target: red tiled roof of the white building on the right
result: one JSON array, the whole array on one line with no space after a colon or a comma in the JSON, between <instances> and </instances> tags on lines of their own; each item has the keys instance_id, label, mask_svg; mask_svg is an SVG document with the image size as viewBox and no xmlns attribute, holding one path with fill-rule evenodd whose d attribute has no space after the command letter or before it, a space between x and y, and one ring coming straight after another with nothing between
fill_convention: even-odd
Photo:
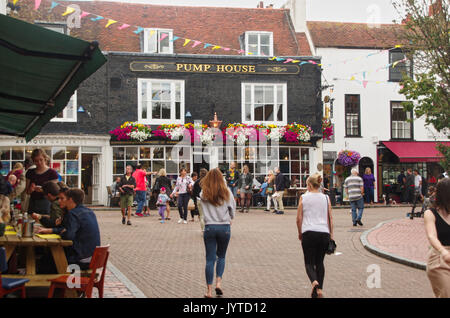
<instances>
[{"instance_id":1,"label":"red tiled roof of the white building on the right","mask_svg":"<svg viewBox=\"0 0 450 318\"><path fill-rule=\"evenodd\" d=\"M405 28L400 24L381 24L370 28L366 23L307 22L315 47L391 48L405 44Z\"/></svg>"}]
</instances>

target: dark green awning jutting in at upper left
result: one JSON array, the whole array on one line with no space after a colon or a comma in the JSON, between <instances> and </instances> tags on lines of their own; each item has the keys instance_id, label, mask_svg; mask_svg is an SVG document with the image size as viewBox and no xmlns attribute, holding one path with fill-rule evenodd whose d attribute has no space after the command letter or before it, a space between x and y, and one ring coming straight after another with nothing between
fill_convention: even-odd
<instances>
[{"instance_id":1,"label":"dark green awning jutting in at upper left","mask_svg":"<svg viewBox=\"0 0 450 318\"><path fill-rule=\"evenodd\" d=\"M0 14L0 134L31 140L104 63L96 42Z\"/></svg>"}]
</instances>

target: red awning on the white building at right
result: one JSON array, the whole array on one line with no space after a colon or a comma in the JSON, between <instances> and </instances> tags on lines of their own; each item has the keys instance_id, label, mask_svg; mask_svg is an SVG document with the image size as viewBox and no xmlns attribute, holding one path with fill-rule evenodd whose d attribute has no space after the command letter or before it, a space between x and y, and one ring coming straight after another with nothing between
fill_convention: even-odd
<instances>
[{"instance_id":1,"label":"red awning on the white building at right","mask_svg":"<svg viewBox=\"0 0 450 318\"><path fill-rule=\"evenodd\" d=\"M450 142L442 142L450 147ZM383 141L400 162L439 162L442 154L434 141Z\"/></svg>"}]
</instances>

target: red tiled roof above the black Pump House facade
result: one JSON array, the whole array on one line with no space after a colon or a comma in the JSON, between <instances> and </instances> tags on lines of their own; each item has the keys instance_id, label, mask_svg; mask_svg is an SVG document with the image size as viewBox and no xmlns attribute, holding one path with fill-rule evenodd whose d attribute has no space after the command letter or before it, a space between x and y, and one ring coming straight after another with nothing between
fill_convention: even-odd
<instances>
[{"instance_id":1,"label":"red tiled roof above the black Pump House facade","mask_svg":"<svg viewBox=\"0 0 450 318\"><path fill-rule=\"evenodd\" d=\"M69 5L70 2L61 4ZM71 29L70 34L88 41L97 40L103 51L140 52L140 37L132 32L135 28L120 31L117 28L121 24L116 23L105 29L107 19L110 18L145 28L173 29L174 36L237 50L241 49L239 36L245 31L271 31L275 56L311 55L309 45L301 35L301 41L298 41L300 47L297 46L295 33L290 28L289 12L286 9L184 7L105 1L76 2L76 4L81 10L100 15L105 19L93 22L91 18L95 16L87 16L81 19L81 28ZM12 16L29 22L65 21L66 18L62 17L65 8L57 6L48 13L50 5L51 1L44 0L41 8L34 11L33 0L22 0L19 14ZM184 47L183 44L184 41L181 39L175 41L174 52L237 54L235 51L203 49L203 44L195 48L190 44Z\"/></svg>"}]
</instances>

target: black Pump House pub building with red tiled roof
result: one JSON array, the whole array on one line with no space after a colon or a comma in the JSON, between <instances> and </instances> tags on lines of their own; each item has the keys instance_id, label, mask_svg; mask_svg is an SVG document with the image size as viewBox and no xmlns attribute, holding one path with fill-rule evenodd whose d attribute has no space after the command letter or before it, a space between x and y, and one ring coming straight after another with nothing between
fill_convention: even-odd
<instances>
[{"instance_id":1,"label":"black Pump House pub building with red tiled roof","mask_svg":"<svg viewBox=\"0 0 450 318\"><path fill-rule=\"evenodd\" d=\"M24 2L16 18L96 39L108 61L80 85L64 112L32 141L0 138L3 172L32 149L42 147L63 181L86 191L86 203L104 205L108 203L107 186L125 173L128 164L141 163L155 172L165 168L172 179L181 167L189 173L202 167L225 172L236 161L239 169L247 164L262 180L268 169L279 166L291 179L292 188L306 188L306 178L320 172L320 58L311 56L305 34L292 30L289 10L112 2L79 6L98 16L134 20L136 25L152 28L136 35L132 30L106 29L83 19L79 28L68 30L61 23L61 12L34 11L31 2ZM185 45L186 39L204 43L193 48L194 40ZM241 48L242 53L205 49L205 43ZM270 56L298 62L282 63ZM111 132L126 122L148 125L153 132L161 125L194 122L208 126L221 122L220 128L233 123L281 127L296 122L311 127L312 133L298 142L228 142L223 147L208 147L187 139L180 145L179 140L155 134L119 140ZM179 158L174 158L176 153Z\"/></svg>"}]
</instances>

